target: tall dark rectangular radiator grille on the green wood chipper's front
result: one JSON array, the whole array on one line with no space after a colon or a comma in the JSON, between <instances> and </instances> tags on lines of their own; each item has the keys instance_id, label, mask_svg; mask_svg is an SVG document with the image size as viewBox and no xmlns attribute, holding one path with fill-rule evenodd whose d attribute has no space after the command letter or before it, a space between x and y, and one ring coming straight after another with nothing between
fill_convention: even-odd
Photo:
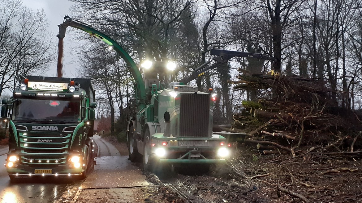
<instances>
[{"instance_id":1,"label":"tall dark rectangular radiator grille on the green wood chipper's front","mask_svg":"<svg viewBox=\"0 0 362 203\"><path fill-rule=\"evenodd\" d=\"M178 137L209 137L209 115L210 95L182 94Z\"/></svg>"}]
</instances>

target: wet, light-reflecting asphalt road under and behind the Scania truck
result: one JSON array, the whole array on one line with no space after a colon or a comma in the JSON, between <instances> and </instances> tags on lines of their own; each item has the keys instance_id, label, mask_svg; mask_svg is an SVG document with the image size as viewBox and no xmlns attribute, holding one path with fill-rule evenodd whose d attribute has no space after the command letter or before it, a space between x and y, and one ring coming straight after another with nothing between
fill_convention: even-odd
<instances>
[{"instance_id":1,"label":"wet, light-reflecting asphalt road under and behind the Scania truck","mask_svg":"<svg viewBox=\"0 0 362 203\"><path fill-rule=\"evenodd\" d=\"M98 156L111 156L115 153L110 149L113 146L103 143L99 136L94 136L93 139L99 146ZM0 147L0 203L73 202L72 198L83 181L75 181L68 177L37 176L10 182L4 166L7 152L7 146Z\"/></svg>"}]
</instances>

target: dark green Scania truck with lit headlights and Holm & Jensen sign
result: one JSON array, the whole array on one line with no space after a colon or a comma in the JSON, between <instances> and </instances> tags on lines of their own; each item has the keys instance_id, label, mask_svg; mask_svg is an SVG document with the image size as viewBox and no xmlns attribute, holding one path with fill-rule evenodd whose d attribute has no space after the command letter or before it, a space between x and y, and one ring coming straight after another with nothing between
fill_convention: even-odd
<instances>
[{"instance_id":1,"label":"dark green Scania truck with lit headlights and Holm & Jensen sign","mask_svg":"<svg viewBox=\"0 0 362 203\"><path fill-rule=\"evenodd\" d=\"M94 90L90 79L20 76L1 117L9 122L5 167L17 176L84 179L93 163Z\"/></svg>"}]
</instances>

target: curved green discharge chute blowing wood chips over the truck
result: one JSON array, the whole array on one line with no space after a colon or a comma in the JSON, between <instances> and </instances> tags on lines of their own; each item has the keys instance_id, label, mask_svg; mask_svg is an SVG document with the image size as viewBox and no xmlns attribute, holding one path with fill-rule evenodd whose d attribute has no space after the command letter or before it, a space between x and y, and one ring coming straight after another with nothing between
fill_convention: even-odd
<instances>
[{"instance_id":1,"label":"curved green discharge chute blowing wood chips over the truck","mask_svg":"<svg viewBox=\"0 0 362 203\"><path fill-rule=\"evenodd\" d=\"M126 64L129 67L129 70L135 80L134 88L136 91L136 96L138 99L140 99L138 108L142 109L146 105L145 101L147 100L146 88L144 86L142 74L139 72L136 63L133 61L133 59L130 57L130 55L126 52L126 50L123 49L123 47L121 45L119 45L116 41L114 41L112 38L105 35L104 33L101 33L100 31L94 29L90 25L87 25L80 21L73 20L69 16L65 16L64 22L61 23L60 25L58 25L59 34L56 36L59 39L65 37L66 29L68 26L74 27L79 30L83 30L83 31L89 33L91 36L96 36L97 38L101 39L103 42L105 42L109 46L112 46L113 49L122 57L122 59L125 60Z\"/></svg>"}]
</instances>

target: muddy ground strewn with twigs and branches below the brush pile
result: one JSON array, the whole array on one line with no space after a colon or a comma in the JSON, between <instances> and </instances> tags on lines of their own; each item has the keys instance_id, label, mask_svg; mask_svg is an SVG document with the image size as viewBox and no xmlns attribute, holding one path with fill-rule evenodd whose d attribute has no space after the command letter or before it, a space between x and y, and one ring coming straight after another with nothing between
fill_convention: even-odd
<instances>
[{"instance_id":1,"label":"muddy ground strewn with twigs and branches below the brush pile","mask_svg":"<svg viewBox=\"0 0 362 203\"><path fill-rule=\"evenodd\" d=\"M118 143L114 137L106 139L121 155L127 155L125 143ZM153 184L133 190L138 199L131 202L186 202L167 183L195 197L195 202L362 202L358 157L266 156L243 146L235 153L238 158L227 167L214 166L207 174L162 173L158 174L159 180L145 172Z\"/></svg>"}]
</instances>

